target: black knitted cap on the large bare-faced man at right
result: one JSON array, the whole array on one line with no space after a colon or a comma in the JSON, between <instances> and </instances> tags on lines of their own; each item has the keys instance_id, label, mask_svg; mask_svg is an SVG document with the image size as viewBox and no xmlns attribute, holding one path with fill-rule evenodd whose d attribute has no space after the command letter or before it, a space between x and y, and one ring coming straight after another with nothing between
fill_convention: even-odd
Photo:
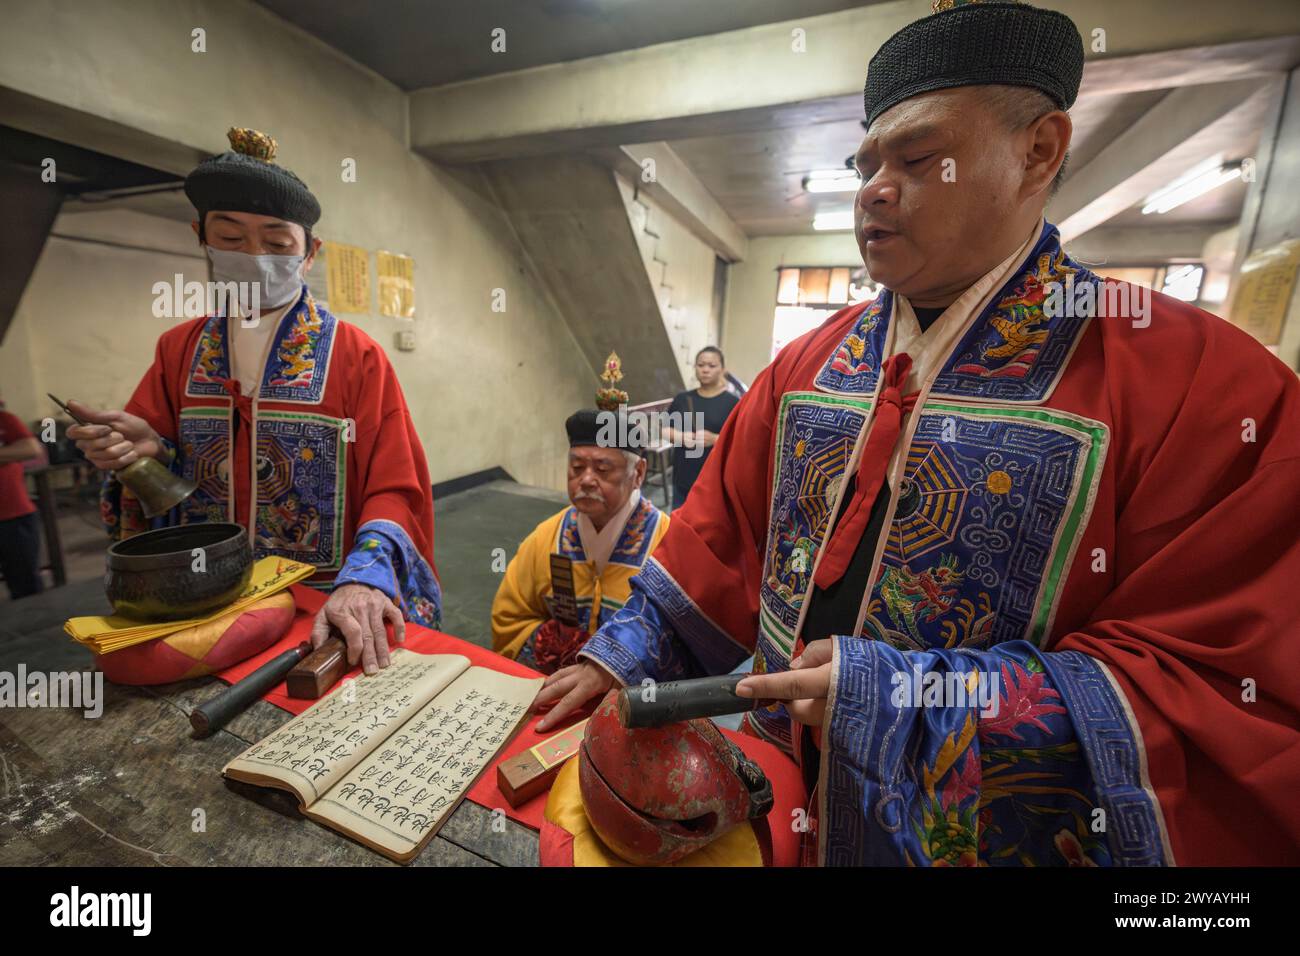
<instances>
[{"instance_id":1,"label":"black knitted cap on the large bare-faced man at right","mask_svg":"<svg viewBox=\"0 0 1300 956\"><path fill-rule=\"evenodd\" d=\"M1061 109L1083 79L1083 38L1063 13L1019 3L963 3L909 23L867 65L867 129L906 99L954 86L1028 86Z\"/></svg>"}]
</instances>

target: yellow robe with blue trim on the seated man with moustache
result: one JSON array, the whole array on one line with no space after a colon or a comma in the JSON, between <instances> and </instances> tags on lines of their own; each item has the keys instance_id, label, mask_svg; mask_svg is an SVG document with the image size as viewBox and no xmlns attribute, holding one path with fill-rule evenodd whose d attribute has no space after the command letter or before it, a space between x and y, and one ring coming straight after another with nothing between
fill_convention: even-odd
<instances>
[{"instance_id":1,"label":"yellow robe with blue trim on the seated man with moustache","mask_svg":"<svg viewBox=\"0 0 1300 956\"><path fill-rule=\"evenodd\" d=\"M597 609L598 627L627 602L632 576L641 571L667 529L668 515L642 498L628 515L619 542L598 575L595 563L582 551L577 510L567 507L547 518L523 540L506 567L506 578L491 604L493 649L510 658L517 657L533 631L550 620L551 554L573 561L578 619L592 633L595 631L592 609Z\"/></svg>"}]
</instances>

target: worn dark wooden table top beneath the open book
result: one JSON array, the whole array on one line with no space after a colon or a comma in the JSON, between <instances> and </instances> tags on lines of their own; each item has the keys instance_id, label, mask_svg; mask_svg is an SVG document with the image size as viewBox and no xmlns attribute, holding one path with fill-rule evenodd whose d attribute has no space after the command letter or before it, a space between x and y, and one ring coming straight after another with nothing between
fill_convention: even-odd
<instances>
[{"instance_id":1,"label":"worn dark wooden table top beneath the open book","mask_svg":"<svg viewBox=\"0 0 1300 956\"><path fill-rule=\"evenodd\" d=\"M91 654L62 631L105 614L100 581L0 604L0 671L84 671ZM103 714L0 708L0 865L394 866L304 818L289 793L221 777L221 767L285 722L257 701L194 739L190 711L226 685L104 682ZM202 810L202 813L199 813ZM413 866L536 866L537 834L464 800Z\"/></svg>"}]
</instances>

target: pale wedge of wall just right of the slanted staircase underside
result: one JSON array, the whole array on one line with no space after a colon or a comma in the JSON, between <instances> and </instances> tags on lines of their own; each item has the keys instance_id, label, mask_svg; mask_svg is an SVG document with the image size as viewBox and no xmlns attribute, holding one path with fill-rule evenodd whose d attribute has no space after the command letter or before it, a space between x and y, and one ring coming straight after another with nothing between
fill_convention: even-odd
<instances>
[{"instance_id":1,"label":"pale wedge of wall just right of the slanted staircase underside","mask_svg":"<svg viewBox=\"0 0 1300 956\"><path fill-rule=\"evenodd\" d=\"M655 290L663 325L686 388L694 388L696 354L716 345L720 316L714 315L714 250L677 221L649 194L621 176L619 191L632 232ZM636 356L630 358L633 362ZM633 395L632 402L654 402L671 395Z\"/></svg>"}]
</instances>

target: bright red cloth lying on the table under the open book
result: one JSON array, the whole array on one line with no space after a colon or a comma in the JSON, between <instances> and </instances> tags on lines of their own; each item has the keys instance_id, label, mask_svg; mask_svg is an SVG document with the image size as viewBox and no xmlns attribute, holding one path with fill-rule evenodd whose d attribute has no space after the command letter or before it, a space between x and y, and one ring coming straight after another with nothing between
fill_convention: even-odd
<instances>
[{"instance_id":1,"label":"bright red cloth lying on the table under the open book","mask_svg":"<svg viewBox=\"0 0 1300 956\"><path fill-rule=\"evenodd\" d=\"M294 593L294 601L298 604L298 617L294 618L294 623L285 636L276 641L276 644L266 648L263 653L250 657L247 661L235 665L234 667L218 671L216 676L233 684L234 682L252 674L277 654L282 654L302 641L311 640L312 622L316 618L316 613L321 609L321 605L325 604L325 594L302 584L295 584L291 589ZM530 667L525 667L516 661L502 657L488 648L480 648L477 644L471 644L469 641L460 640L459 637L452 637L450 633L432 631L426 627L412 624L410 622L407 622L406 631L406 644L394 646L403 646L407 650L413 650L420 654L464 654L469 658L469 662L477 667L489 667L491 670L500 671L502 674L514 674L520 678L542 676ZM360 672L360 666L356 666L348 671L346 676L356 676ZM266 700L277 708L290 711L291 714L300 714L316 702L290 697L285 693L283 682L276 684L274 688L263 695L263 700ZM582 711L576 714L569 724L577 723L585 718L588 713L589 711ZM546 792L543 791L519 809L512 808L506 801L500 788L497 787L497 765L508 757L514 757L521 750L526 750L529 747L536 747L541 741L559 734L560 730L563 730L563 727L556 727L546 734L538 734L533 728L541 718L542 714L528 715L528 719L520 728L519 734L516 734L500 754L498 754L497 760L488 765L488 769L478 777L474 784L469 788L468 793L468 797L480 806L486 806L489 809L497 809L499 806L511 819L517 819L520 823L529 826L533 830L542 829L542 813L546 810Z\"/></svg>"}]
</instances>

